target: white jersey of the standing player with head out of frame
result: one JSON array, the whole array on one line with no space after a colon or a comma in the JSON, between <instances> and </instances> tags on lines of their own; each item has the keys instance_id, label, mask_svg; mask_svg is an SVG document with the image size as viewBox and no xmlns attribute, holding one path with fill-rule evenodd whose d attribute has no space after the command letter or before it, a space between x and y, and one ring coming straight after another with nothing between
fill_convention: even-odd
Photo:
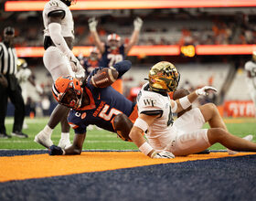
<instances>
[{"instance_id":1,"label":"white jersey of the standing player with head out of frame","mask_svg":"<svg viewBox=\"0 0 256 201\"><path fill-rule=\"evenodd\" d=\"M65 12L64 18L61 20L61 35L62 37L74 38L74 21L73 16L69 10L69 6L65 5L60 0L50 0L44 7L43 20L44 20L44 37L49 37L48 31L48 13L54 10L63 10Z\"/></svg>"}]
</instances>

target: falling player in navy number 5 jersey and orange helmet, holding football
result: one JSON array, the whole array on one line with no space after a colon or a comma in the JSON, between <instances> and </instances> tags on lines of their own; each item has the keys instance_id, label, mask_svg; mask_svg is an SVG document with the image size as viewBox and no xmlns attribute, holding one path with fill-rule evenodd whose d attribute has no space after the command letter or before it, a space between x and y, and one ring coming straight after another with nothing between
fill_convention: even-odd
<instances>
[{"instance_id":1,"label":"falling player in navy number 5 jersey and orange helmet, holding football","mask_svg":"<svg viewBox=\"0 0 256 201\"><path fill-rule=\"evenodd\" d=\"M112 68L94 69L87 80L59 77L52 87L53 96L60 104L71 108L68 122L74 129L74 141L68 148L49 147L50 155L80 154L90 124L110 132L116 132L124 141L131 141L129 132L137 117L135 103L112 89L111 84L131 68L128 60L118 62ZM129 119L129 118L131 119Z\"/></svg>"}]
</instances>

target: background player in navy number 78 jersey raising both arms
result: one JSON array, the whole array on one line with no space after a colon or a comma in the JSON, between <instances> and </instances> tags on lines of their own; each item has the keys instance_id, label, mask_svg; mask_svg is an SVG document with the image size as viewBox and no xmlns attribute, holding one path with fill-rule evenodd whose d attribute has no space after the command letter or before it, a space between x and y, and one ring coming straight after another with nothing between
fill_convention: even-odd
<instances>
[{"instance_id":1,"label":"background player in navy number 78 jersey raising both arms","mask_svg":"<svg viewBox=\"0 0 256 201\"><path fill-rule=\"evenodd\" d=\"M94 17L89 19L89 28L91 31L91 35L94 38L94 44L95 46L100 50L101 52L101 67L112 67L113 64L122 61L128 52L133 48L133 46L138 42L139 34L141 27L143 26L143 20L140 17L137 17L133 21L133 34L130 38L127 45L120 44L121 43L121 37L118 36L115 33L110 34L107 37L107 43L101 43L101 39L97 33L96 26L98 24L98 21ZM123 82L122 79L116 80L112 87L115 90L118 90L119 92L123 93Z\"/></svg>"}]
</instances>

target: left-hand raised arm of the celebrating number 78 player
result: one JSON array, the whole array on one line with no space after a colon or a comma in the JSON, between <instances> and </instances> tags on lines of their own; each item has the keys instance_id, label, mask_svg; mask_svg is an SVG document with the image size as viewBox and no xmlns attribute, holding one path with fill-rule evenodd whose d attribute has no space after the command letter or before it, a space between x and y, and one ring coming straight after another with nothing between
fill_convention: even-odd
<instances>
[{"instance_id":1,"label":"left-hand raised arm of the celebrating number 78 player","mask_svg":"<svg viewBox=\"0 0 256 201\"><path fill-rule=\"evenodd\" d=\"M89 29L91 31L91 36L94 39L95 46L100 49L101 54L105 51L104 45L101 43L101 39L98 35L96 26L98 25L98 21L95 19L95 17L91 17L88 20Z\"/></svg>"}]
</instances>

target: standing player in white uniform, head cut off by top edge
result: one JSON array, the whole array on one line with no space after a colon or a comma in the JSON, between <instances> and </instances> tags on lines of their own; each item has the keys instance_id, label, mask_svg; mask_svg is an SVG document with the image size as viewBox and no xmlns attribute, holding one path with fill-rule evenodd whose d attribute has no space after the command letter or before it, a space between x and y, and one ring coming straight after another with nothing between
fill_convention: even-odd
<instances>
[{"instance_id":1,"label":"standing player in white uniform, head cut off by top edge","mask_svg":"<svg viewBox=\"0 0 256 201\"><path fill-rule=\"evenodd\" d=\"M71 49L74 39L74 22L69 6L73 0L50 0L44 7L44 65L55 81L59 76L83 76L83 68ZM61 123L61 139L59 146L65 148L69 141L69 123L67 116L69 108L58 105L51 113L45 128L35 137L35 142L45 147L51 146L50 140L53 129Z\"/></svg>"}]
</instances>

